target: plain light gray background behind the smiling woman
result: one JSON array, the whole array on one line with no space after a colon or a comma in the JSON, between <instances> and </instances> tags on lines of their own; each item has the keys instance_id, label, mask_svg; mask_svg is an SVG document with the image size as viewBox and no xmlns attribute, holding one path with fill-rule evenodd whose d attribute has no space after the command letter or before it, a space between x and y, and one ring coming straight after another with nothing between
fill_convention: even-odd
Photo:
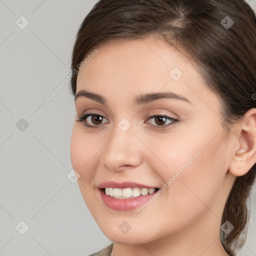
<instances>
[{"instance_id":1,"label":"plain light gray background behind the smiling woman","mask_svg":"<svg viewBox=\"0 0 256 256\"><path fill-rule=\"evenodd\" d=\"M256 10L256 0L248 2ZM76 31L95 3L0 0L1 256L85 256L109 243L66 176L75 113L69 84L46 98L68 75ZM15 23L21 15L24 29ZM255 194L254 187L251 202ZM238 255L256 255L256 201L249 223Z\"/></svg>"}]
</instances>

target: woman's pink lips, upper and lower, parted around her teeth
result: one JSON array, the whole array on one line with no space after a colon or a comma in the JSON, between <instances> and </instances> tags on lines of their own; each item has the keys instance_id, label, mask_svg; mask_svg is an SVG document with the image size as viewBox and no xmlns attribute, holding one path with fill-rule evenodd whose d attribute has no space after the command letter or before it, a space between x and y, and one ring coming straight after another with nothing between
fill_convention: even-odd
<instances>
[{"instance_id":1,"label":"woman's pink lips, upper and lower, parted around her teeth","mask_svg":"<svg viewBox=\"0 0 256 256\"><path fill-rule=\"evenodd\" d=\"M103 191L102 188L105 187L116 187L116 188L125 188L125 187L140 187L140 188L155 188L154 186L148 186L148 185L144 185L144 184L140 184L140 183L136 183L136 182L115 182L115 181L106 181L103 183L100 183L98 185L98 187L100 188L100 195L101 195L101 199L103 201L103 203L108 207L111 208L113 210L121 210L121 211L126 211L126 210L132 210L135 209L139 206L141 206L142 204L146 203L149 201L149 197L153 196L156 192L154 191L151 194L147 194L147 195L140 195L140 196L136 196L133 198L128 198L128 199L118 199L118 198L113 198L109 195L106 195L105 192Z\"/></svg>"}]
</instances>

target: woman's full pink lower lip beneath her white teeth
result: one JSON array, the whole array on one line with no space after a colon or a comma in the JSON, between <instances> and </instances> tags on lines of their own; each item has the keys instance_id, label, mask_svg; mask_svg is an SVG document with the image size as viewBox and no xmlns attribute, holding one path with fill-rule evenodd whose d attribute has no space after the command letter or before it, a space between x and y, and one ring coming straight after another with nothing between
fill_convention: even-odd
<instances>
[{"instance_id":1,"label":"woman's full pink lower lip beneath her white teeth","mask_svg":"<svg viewBox=\"0 0 256 256\"><path fill-rule=\"evenodd\" d=\"M150 196L154 196L154 194L158 191L154 191L151 194L147 195L140 195L128 199L118 199L118 198L113 198L109 195L106 195L105 192L102 189L99 189L101 198L103 203L110 209L113 210L121 210L121 211L126 211L126 210L132 210L135 209L144 203L149 201Z\"/></svg>"}]
</instances>

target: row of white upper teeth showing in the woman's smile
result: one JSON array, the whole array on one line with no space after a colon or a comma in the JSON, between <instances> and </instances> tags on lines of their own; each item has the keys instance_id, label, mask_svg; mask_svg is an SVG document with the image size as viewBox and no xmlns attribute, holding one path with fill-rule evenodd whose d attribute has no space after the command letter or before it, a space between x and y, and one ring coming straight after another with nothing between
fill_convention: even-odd
<instances>
[{"instance_id":1,"label":"row of white upper teeth showing in the woman's smile","mask_svg":"<svg viewBox=\"0 0 256 256\"><path fill-rule=\"evenodd\" d=\"M155 191L155 188L139 188L139 187L126 187L126 188L116 188L116 187L106 187L105 188L105 194L110 195L114 198L119 199L126 199L126 198L132 198L136 196L141 195L147 195L148 193L151 194Z\"/></svg>"}]
</instances>

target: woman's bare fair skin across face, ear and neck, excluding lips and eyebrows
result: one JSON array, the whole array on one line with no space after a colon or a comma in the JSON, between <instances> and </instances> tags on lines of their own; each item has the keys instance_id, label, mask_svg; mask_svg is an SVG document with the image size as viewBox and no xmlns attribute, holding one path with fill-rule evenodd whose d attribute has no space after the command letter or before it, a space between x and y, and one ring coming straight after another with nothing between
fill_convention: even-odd
<instances>
[{"instance_id":1,"label":"woman's bare fair skin across face, ear and neck, excluding lips and eyebrows","mask_svg":"<svg viewBox=\"0 0 256 256\"><path fill-rule=\"evenodd\" d=\"M255 163L255 113L252 108L230 131L221 125L220 100L205 85L192 60L162 39L147 37L105 43L77 77L82 89L102 95L106 105L84 96L75 101L76 116L92 116L86 128L75 118L71 162L79 173L84 201L102 232L114 242L111 256L228 255L220 243L224 204L236 178ZM169 72L178 67L175 81ZM172 91L189 102L161 98L134 105L139 94ZM165 129L149 116L166 114L179 121ZM131 127L118 123L127 118ZM94 121L94 122L93 122ZM166 119L162 125L172 121ZM103 181L134 181L161 187L196 152L200 156L184 169L154 202L118 211L107 208L97 185ZM118 226L126 221L130 230Z\"/></svg>"}]
</instances>

